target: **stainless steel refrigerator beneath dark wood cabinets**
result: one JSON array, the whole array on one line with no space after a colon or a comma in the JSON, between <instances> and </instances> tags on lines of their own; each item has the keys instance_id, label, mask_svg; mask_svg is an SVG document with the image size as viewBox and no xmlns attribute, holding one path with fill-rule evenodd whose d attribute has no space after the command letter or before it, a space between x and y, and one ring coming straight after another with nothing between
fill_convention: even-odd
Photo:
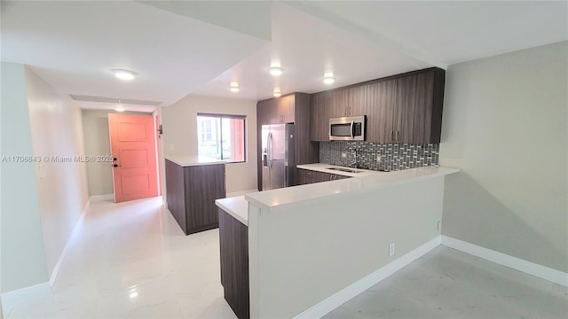
<instances>
[{"instance_id":1,"label":"stainless steel refrigerator beneath dark wood cabinets","mask_svg":"<svg viewBox=\"0 0 568 319\"><path fill-rule=\"evenodd\" d=\"M263 191L294 185L294 124L263 125Z\"/></svg>"}]
</instances>

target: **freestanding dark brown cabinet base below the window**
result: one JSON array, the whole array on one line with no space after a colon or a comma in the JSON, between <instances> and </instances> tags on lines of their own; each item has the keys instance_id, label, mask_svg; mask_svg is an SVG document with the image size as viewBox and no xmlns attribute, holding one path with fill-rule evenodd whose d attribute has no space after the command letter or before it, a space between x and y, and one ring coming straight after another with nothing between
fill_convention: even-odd
<instances>
[{"instance_id":1,"label":"freestanding dark brown cabinet base below the window","mask_svg":"<svg viewBox=\"0 0 568 319\"><path fill-rule=\"evenodd\" d=\"M225 198L225 163L182 167L166 159L168 209L185 235L218 227L215 199Z\"/></svg>"}]
</instances>

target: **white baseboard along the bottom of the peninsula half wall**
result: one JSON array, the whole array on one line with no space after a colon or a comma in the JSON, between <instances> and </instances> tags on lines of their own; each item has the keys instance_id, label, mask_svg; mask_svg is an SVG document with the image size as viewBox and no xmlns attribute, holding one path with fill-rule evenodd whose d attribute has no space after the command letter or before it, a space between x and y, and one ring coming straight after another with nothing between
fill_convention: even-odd
<instances>
[{"instance_id":1,"label":"white baseboard along the bottom of the peninsula half wall","mask_svg":"<svg viewBox=\"0 0 568 319\"><path fill-rule=\"evenodd\" d=\"M343 305L348 300L359 295L361 292L365 292L367 289L371 288L373 285L381 282L384 278L394 274L401 268L405 267L409 263L422 257L425 253L430 252L432 249L440 245L440 237L434 237L430 241L426 242L415 248L414 250L406 253L405 255L399 257L395 261L391 261L383 268L375 270L372 274L360 279L359 281L350 284L349 286L343 288L340 292L335 292L325 300L321 300L318 304L304 310L304 312L296 315L294 318L321 318L327 315L329 312L335 308Z\"/></svg>"}]
</instances>

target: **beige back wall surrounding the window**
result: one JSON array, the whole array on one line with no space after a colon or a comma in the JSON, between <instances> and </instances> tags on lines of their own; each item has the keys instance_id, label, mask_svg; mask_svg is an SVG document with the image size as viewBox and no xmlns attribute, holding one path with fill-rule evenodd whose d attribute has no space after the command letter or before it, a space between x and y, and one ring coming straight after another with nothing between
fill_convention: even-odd
<instances>
[{"instance_id":1,"label":"beige back wall surrounding the window","mask_svg":"<svg viewBox=\"0 0 568 319\"><path fill-rule=\"evenodd\" d=\"M246 115L245 163L227 164L227 193L256 189L256 101L189 95L162 108L163 155L197 155L197 113ZM173 144L174 150L170 150ZM166 190L167 191L167 190Z\"/></svg>"}]
</instances>

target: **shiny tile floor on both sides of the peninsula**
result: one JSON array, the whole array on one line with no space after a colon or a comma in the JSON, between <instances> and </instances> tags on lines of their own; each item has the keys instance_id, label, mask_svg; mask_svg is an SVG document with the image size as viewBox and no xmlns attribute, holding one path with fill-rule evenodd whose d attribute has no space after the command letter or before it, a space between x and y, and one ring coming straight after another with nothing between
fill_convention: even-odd
<instances>
[{"instance_id":1,"label":"shiny tile floor on both sides of the peninsula","mask_svg":"<svg viewBox=\"0 0 568 319\"><path fill-rule=\"evenodd\" d=\"M8 318L235 318L218 230L185 236L161 198L91 204L49 298ZM568 289L439 246L326 318L568 318Z\"/></svg>"}]
</instances>

